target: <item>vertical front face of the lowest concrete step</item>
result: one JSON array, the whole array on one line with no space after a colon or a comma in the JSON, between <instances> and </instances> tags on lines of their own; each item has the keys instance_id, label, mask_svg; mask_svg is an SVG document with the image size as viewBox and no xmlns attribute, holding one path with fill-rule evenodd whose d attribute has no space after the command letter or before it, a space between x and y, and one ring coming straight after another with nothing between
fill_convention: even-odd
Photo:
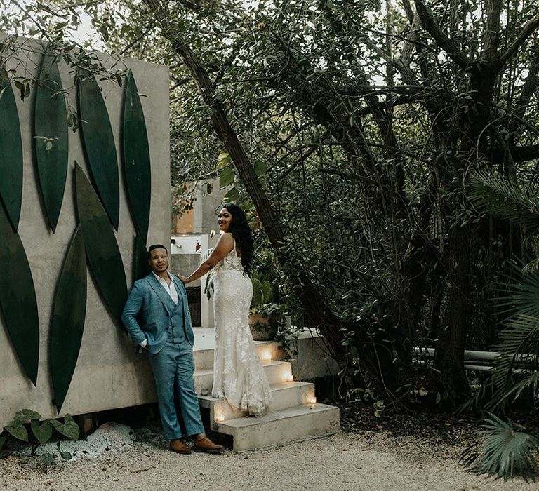
<instances>
[{"instance_id":1,"label":"vertical front face of the lowest concrete step","mask_svg":"<svg viewBox=\"0 0 539 491\"><path fill-rule=\"evenodd\" d=\"M286 419L267 422L255 427L230 427L217 424L218 431L231 435L234 451L244 452L281 445L293 440L336 433L340 429L339 410L331 408Z\"/></svg>"}]
</instances>

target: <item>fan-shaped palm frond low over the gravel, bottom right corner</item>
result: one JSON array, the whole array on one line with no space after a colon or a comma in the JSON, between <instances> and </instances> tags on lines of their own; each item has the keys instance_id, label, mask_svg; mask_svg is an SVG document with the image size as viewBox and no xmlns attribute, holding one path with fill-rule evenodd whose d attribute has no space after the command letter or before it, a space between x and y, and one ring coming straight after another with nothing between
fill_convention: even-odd
<instances>
[{"instance_id":1,"label":"fan-shaped palm frond low over the gravel, bottom right corner","mask_svg":"<svg viewBox=\"0 0 539 491\"><path fill-rule=\"evenodd\" d=\"M481 426L482 445L468 447L460 455L460 460L477 473L495 474L507 480L517 472L525 480L531 478L535 481L539 438L516 431L511 420L505 422L495 415L490 416Z\"/></svg>"}]
</instances>

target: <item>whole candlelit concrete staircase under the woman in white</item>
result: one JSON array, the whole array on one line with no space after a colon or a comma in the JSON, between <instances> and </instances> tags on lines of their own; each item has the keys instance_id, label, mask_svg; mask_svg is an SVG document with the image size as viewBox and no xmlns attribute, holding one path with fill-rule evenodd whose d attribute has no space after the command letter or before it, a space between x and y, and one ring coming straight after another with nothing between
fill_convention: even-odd
<instances>
[{"instance_id":1,"label":"whole candlelit concrete staircase under the woman in white","mask_svg":"<svg viewBox=\"0 0 539 491\"><path fill-rule=\"evenodd\" d=\"M291 363L282 360L277 342L256 345L272 389L272 402L267 415L262 417L248 417L246 412L234 410L225 399L213 398L213 349L194 352L194 386L201 408L209 410L213 430L232 436L236 452L339 431L338 408L317 403L314 384L293 379Z\"/></svg>"}]
</instances>

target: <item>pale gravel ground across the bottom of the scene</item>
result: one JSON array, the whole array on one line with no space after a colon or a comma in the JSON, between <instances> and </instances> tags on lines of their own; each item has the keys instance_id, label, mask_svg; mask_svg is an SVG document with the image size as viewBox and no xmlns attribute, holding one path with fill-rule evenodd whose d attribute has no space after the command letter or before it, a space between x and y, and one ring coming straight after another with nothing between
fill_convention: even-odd
<instances>
[{"instance_id":1,"label":"pale gravel ground across the bottom of the scene","mask_svg":"<svg viewBox=\"0 0 539 491\"><path fill-rule=\"evenodd\" d=\"M39 457L24 455L27 450L12 452L0 459L0 489L539 489L519 478L504 483L465 471L458 463L463 445L439 445L391 431L352 431L269 450L227 450L223 455L176 455L156 429L129 432L126 426L112 425L108 433L98 433L94 443L97 440L100 446L85 450L89 443L81 442L78 450L69 449L76 450L74 460L48 469Z\"/></svg>"}]
</instances>

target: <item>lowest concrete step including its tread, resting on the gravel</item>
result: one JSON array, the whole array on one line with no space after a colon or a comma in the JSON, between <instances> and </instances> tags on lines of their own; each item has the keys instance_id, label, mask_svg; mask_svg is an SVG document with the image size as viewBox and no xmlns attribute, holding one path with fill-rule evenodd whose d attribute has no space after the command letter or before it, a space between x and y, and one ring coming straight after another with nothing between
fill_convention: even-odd
<instances>
[{"instance_id":1,"label":"lowest concrete step including its tread, resting on the gravel","mask_svg":"<svg viewBox=\"0 0 539 491\"><path fill-rule=\"evenodd\" d=\"M262 417L240 417L213 423L219 433L233 438L235 452L281 445L340 430L339 409L331 405L300 405Z\"/></svg>"}]
</instances>

